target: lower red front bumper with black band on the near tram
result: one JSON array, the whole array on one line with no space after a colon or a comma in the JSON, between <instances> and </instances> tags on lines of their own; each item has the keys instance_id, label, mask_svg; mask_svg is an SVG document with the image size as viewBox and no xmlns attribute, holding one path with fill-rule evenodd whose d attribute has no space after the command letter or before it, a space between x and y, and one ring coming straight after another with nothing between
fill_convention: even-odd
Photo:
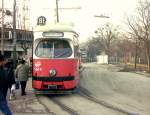
<instances>
[{"instance_id":1,"label":"lower red front bumper with black band on the near tram","mask_svg":"<svg viewBox=\"0 0 150 115\"><path fill-rule=\"evenodd\" d=\"M32 86L37 90L65 90L76 86L75 77L33 77Z\"/></svg>"}]
</instances>

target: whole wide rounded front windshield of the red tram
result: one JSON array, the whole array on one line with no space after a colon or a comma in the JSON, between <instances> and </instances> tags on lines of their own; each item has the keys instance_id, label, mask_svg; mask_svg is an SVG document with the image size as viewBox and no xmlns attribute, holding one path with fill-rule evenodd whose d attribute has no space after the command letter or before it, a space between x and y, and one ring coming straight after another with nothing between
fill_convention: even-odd
<instances>
[{"instance_id":1,"label":"whole wide rounded front windshield of the red tram","mask_svg":"<svg viewBox=\"0 0 150 115\"><path fill-rule=\"evenodd\" d=\"M71 46L66 40L41 40L35 50L35 55L41 58L67 58L71 54Z\"/></svg>"}]
</instances>

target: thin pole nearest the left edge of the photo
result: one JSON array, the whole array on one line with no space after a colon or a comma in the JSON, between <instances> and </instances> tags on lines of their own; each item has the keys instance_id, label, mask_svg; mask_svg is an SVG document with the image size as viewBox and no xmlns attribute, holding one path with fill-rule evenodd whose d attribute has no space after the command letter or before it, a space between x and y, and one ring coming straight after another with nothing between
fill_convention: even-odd
<instances>
[{"instance_id":1,"label":"thin pole nearest the left edge of the photo","mask_svg":"<svg viewBox=\"0 0 150 115\"><path fill-rule=\"evenodd\" d=\"M4 55L4 0L2 0L1 54Z\"/></svg>"}]
</instances>

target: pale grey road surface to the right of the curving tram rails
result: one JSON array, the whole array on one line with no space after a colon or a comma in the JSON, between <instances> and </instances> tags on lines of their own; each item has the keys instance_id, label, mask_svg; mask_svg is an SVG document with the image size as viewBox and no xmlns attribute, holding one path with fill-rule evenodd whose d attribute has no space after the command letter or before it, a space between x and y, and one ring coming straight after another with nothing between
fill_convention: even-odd
<instances>
[{"instance_id":1,"label":"pale grey road surface to the right of the curving tram rails","mask_svg":"<svg viewBox=\"0 0 150 115\"><path fill-rule=\"evenodd\" d=\"M94 97L131 114L150 115L150 78L112 65L84 67L80 84Z\"/></svg>"}]
</instances>

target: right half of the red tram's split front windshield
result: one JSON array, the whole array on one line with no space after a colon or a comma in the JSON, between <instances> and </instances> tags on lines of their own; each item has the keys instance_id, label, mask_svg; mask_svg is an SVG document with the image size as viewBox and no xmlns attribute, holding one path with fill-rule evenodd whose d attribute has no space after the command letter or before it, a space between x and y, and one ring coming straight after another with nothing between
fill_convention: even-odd
<instances>
[{"instance_id":1,"label":"right half of the red tram's split front windshield","mask_svg":"<svg viewBox=\"0 0 150 115\"><path fill-rule=\"evenodd\" d=\"M65 40L55 41L54 57L55 58L66 58L71 56L72 50L69 43Z\"/></svg>"}]
</instances>

